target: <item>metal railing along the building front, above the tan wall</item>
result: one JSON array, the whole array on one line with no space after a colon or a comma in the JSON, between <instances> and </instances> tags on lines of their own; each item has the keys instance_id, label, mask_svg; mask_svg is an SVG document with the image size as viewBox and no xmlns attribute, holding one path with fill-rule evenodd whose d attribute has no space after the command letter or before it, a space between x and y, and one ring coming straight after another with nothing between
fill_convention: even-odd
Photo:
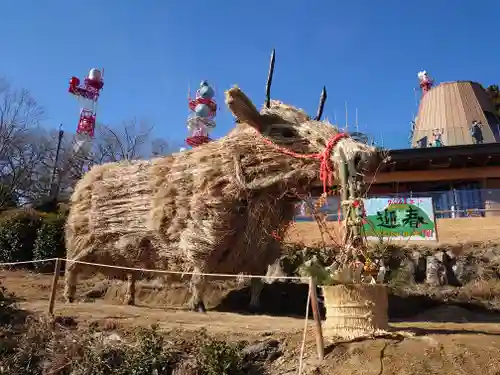
<instances>
[{"instance_id":1,"label":"metal railing along the building front, above the tan wall","mask_svg":"<svg viewBox=\"0 0 500 375\"><path fill-rule=\"evenodd\" d=\"M407 193L370 195L368 198L426 198L431 197L435 216L438 219L458 219L464 217L500 216L500 189L451 189L443 191L411 191ZM299 203L295 211L295 221L312 221L308 204ZM342 212L337 196L329 197L328 203L319 212L328 221L342 220Z\"/></svg>"}]
</instances>

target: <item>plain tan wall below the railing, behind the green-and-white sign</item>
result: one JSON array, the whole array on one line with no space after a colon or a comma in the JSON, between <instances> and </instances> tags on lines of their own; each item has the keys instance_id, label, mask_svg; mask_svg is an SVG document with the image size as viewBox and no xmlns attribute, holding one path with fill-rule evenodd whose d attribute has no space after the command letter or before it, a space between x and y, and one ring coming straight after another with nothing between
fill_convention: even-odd
<instances>
[{"instance_id":1,"label":"plain tan wall below the railing, behind the green-and-white sign","mask_svg":"<svg viewBox=\"0 0 500 375\"><path fill-rule=\"evenodd\" d=\"M341 238L337 223L329 223L329 232L333 237ZM437 219L440 243L461 243L477 241L498 241L500 243L500 217L478 217L460 219ZM286 241L302 242L306 245L321 243L321 234L315 222L294 223L290 228ZM330 236L325 235L325 242L332 243ZM423 244L424 241L415 241Z\"/></svg>"}]
</instances>

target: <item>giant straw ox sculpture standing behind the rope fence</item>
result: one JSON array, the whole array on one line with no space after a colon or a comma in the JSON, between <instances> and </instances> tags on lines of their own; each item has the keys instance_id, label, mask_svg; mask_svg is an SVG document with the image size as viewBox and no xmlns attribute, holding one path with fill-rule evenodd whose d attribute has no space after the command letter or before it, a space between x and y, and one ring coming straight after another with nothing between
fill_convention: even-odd
<instances>
[{"instance_id":1,"label":"giant straw ox sculpture standing behind the rope fence","mask_svg":"<svg viewBox=\"0 0 500 375\"><path fill-rule=\"evenodd\" d=\"M194 272L190 305L205 311L202 273L265 274L280 256L279 238L298 197L319 181L333 183L342 163L353 175L378 161L373 147L281 102L270 101L259 112L232 88L226 104L237 118L226 137L172 156L92 168L71 199L68 258ZM67 263L67 301L75 298L77 275L89 267ZM127 303L134 303L139 274L101 271L126 274ZM258 280L254 306L260 290Z\"/></svg>"}]
</instances>

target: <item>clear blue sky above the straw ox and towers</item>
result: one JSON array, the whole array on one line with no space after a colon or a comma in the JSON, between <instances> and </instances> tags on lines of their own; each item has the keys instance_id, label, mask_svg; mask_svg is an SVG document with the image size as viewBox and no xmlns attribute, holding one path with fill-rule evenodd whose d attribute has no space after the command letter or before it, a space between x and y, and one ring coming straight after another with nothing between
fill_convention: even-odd
<instances>
[{"instance_id":1,"label":"clear blue sky above the straw ox and towers","mask_svg":"<svg viewBox=\"0 0 500 375\"><path fill-rule=\"evenodd\" d=\"M383 5L382 5L383 4ZM272 48L272 96L316 111L384 145L407 147L413 88L425 69L437 81L500 81L498 0L455 1L170 1L4 0L0 76L31 91L48 114L45 126L74 131L72 75L105 68L98 121L137 117L156 136L186 136L188 85L202 79L223 91L238 84L259 106ZM213 135L232 117L221 105Z\"/></svg>"}]
</instances>

